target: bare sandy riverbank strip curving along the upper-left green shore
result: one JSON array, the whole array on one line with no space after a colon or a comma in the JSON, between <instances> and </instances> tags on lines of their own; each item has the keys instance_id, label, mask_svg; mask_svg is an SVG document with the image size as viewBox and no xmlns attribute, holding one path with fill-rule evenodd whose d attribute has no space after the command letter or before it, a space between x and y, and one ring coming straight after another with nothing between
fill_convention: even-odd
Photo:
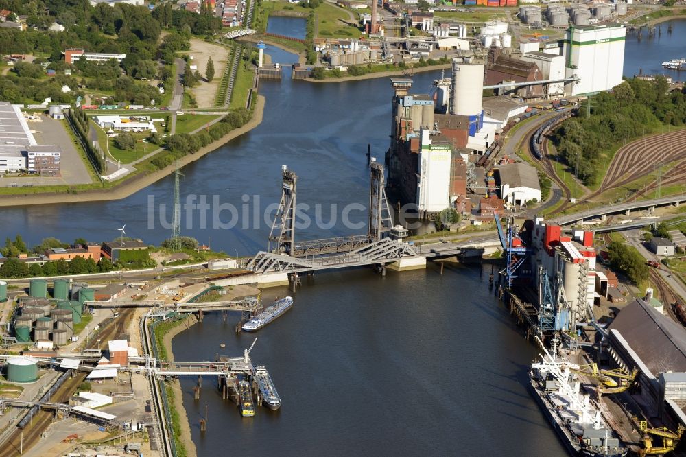
<instances>
[{"instance_id":1,"label":"bare sandy riverbank strip curving along the upper-left green shore","mask_svg":"<svg viewBox=\"0 0 686 457\"><path fill-rule=\"evenodd\" d=\"M205 154L213 152L221 148L228 141L235 139L253 128L259 126L262 122L265 106L265 97L257 95L257 102L255 110L252 113L250 120L244 125L228 132L224 137L213 141L209 145L200 148L195 154L187 154L180 159L179 165L185 166L191 162L195 162ZM169 165L164 169L152 172L146 175L138 175L124 181L123 183L104 190L84 191L80 194L62 194L62 193L46 193L46 194L26 194L26 195L10 195L2 196L0 198L0 207L23 207L35 204L60 204L60 203L82 203L82 202L102 202L110 200L121 200L132 194L135 194L141 189L156 183L165 176L173 173L176 165Z\"/></svg>"}]
</instances>

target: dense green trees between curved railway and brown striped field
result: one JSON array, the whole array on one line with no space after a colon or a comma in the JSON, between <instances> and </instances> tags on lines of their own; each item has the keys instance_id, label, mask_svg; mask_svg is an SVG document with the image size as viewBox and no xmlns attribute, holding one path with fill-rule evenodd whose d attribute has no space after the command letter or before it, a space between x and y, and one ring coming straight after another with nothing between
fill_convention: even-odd
<instances>
[{"instance_id":1,"label":"dense green trees between curved railway and brown striped field","mask_svg":"<svg viewBox=\"0 0 686 457\"><path fill-rule=\"evenodd\" d=\"M553 136L558 152L584 184L597 183L608 151L664 124L686 124L686 95L669 90L665 78L631 78L591 99L589 117L563 122Z\"/></svg>"}]
</instances>

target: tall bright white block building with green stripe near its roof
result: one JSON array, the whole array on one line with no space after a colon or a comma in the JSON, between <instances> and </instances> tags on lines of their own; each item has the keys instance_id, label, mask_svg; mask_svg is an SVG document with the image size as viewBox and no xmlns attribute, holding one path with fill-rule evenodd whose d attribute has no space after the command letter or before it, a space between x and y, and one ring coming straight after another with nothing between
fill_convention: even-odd
<instances>
[{"instance_id":1,"label":"tall bright white block building with green stripe near its roof","mask_svg":"<svg viewBox=\"0 0 686 457\"><path fill-rule=\"evenodd\" d=\"M624 25L571 27L564 40L566 76L578 76L565 91L572 96L608 91L622 83Z\"/></svg>"}]
</instances>

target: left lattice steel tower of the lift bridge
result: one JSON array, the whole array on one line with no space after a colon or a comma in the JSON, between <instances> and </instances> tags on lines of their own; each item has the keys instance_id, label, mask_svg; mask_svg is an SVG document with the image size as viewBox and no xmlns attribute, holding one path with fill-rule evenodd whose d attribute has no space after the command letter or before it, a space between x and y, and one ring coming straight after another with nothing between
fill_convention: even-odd
<instances>
[{"instance_id":1,"label":"left lattice steel tower of the lift bridge","mask_svg":"<svg viewBox=\"0 0 686 457\"><path fill-rule=\"evenodd\" d=\"M281 166L281 202L276 210L272 230L269 233L267 251L275 254L292 255L296 243L296 185L298 175L286 165Z\"/></svg>"}]
</instances>

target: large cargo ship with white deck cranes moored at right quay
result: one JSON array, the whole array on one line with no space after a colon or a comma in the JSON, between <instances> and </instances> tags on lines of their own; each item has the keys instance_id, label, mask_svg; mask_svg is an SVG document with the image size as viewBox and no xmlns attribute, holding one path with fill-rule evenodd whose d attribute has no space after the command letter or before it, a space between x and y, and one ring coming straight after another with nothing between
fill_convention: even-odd
<instances>
[{"instance_id":1,"label":"large cargo ship with white deck cranes moored at right quay","mask_svg":"<svg viewBox=\"0 0 686 457\"><path fill-rule=\"evenodd\" d=\"M573 379L569 370L573 364L544 351L541 362L532 364L530 387L569 453L587 457L626 456L628 449L602 419L598 405L581 392L581 382Z\"/></svg>"}]
</instances>

